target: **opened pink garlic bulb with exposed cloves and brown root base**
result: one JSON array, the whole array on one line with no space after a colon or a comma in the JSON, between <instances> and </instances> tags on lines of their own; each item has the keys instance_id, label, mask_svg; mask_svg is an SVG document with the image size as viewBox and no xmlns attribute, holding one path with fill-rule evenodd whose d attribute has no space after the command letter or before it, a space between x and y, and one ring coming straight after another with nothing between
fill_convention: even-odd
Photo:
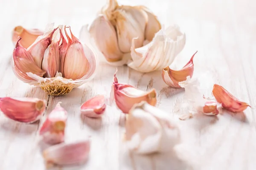
<instances>
[{"instance_id":1,"label":"opened pink garlic bulb with exposed cloves and brown root base","mask_svg":"<svg viewBox=\"0 0 256 170\"><path fill-rule=\"evenodd\" d=\"M89 48L73 35L70 26L48 25L44 35L27 49L20 40L13 51L13 71L17 78L47 94L67 94L95 75L96 54L91 45Z\"/></svg>"}]
</instances>

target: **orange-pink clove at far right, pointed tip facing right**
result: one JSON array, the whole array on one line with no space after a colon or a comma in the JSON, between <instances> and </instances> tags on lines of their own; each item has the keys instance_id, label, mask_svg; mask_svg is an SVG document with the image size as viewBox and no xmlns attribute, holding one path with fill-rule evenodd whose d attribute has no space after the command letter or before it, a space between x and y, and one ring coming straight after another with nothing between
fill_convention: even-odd
<instances>
[{"instance_id":1,"label":"orange-pink clove at far right, pointed tip facing right","mask_svg":"<svg viewBox=\"0 0 256 170\"><path fill-rule=\"evenodd\" d=\"M226 89L224 89L221 85L213 85L212 94L217 100L217 102L221 103L223 108L232 112L242 112L248 106L245 102L239 101L235 96L230 94Z\"/></svg>"}]
</instances>

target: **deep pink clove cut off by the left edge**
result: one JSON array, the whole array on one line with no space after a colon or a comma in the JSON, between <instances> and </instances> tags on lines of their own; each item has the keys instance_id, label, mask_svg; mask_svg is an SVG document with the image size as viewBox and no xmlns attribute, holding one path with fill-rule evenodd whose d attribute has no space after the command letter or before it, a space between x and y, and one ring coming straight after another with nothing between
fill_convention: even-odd
<instances>
[{"instance_id":1,"label":"deep pink clove cut off by the left edge","mask_svg":"<svg viewBox=\"0 0 256 170\"><path fill-rule=\"evenodd\" d=\"M0 98L0 109L8 118L25 123L40 119L45 111L44 100L37 98Z\"/></svg>"}]
</instances>

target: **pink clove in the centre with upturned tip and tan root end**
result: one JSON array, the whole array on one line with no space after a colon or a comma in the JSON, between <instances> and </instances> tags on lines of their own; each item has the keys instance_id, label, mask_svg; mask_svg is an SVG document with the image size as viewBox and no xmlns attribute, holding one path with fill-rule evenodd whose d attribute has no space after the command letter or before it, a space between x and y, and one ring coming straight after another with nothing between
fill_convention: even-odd
<instances>
[{"instance_id":1,"label":"pink clove in the centre with upturned tip and tan root end","mask_svg":"<svg viewBox=\"0 0 256 170\"><path fill-rule=\"evenodd\" d=\"M142 91L132 85L119 83L116 78L116 73L113 78L111 95L116 106L123 112L128 113L132 106L142 101L149 105L155 106L157 103L157 94L155 89L151 91Z\"/></svg>"}]
</instances>

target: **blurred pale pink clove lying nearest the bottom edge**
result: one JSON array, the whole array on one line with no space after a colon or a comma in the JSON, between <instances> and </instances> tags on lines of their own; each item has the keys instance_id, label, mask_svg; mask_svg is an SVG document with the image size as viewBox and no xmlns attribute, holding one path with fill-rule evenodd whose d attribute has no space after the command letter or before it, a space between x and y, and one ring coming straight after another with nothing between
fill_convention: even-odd
<instances>
[{"instance_id":1,"label":"blurred pale pink clove lying nearest the bottom edge","mask_svg":"<svg viewBox=\"0 0 256 170\"><path fill-rule=\"evenodd\" d=\"M83 164L90 153L90 140L61 143L48 147L43 152L47 167L53 165Z\"/></svg>"}]
</instances>

